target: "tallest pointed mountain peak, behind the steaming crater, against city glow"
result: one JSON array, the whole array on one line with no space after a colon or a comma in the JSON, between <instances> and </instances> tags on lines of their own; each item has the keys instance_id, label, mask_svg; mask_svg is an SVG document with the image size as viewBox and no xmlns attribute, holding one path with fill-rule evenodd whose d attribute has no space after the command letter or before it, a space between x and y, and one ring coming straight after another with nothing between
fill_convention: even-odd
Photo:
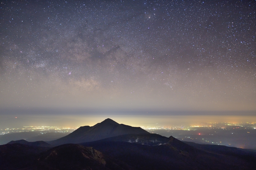
<instances>
[{"instance_id":1,"label":"tallest pointed mountain peak, behind the steaming crater, against city glow","mask_svg":"<svg viewBox=\"0 0 256 170\"><path fill-rule=\"evenodd\" d=\"M119 136L124 134L148 134L146 130L140 127L132 127L119 124L111 119L106 119L94 126L81 126L71 134L60 139L49 141L52 145L61 145L65 143L81 143L96 141L108 137Z\"/></svg>"}]
</instances>

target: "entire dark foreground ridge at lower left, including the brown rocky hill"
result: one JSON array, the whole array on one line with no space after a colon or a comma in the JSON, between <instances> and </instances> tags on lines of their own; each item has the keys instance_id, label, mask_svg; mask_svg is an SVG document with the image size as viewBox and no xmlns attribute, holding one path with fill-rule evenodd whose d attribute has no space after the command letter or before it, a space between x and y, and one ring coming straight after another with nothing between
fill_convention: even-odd
<instances>
[{"instance_id":1,"label":"entire dark foreground ridge at lower left, including the brown rocky hill","mask_svg":"<svg viewBox=\"0 0 256 170\"><path fill-rule=\"evenodd\" d=\"M1 145L0 153L1 170L134 170L126 163L105 156L92 147L77 144L50 149L13 143Z\"/></svg>"}]
</instances>

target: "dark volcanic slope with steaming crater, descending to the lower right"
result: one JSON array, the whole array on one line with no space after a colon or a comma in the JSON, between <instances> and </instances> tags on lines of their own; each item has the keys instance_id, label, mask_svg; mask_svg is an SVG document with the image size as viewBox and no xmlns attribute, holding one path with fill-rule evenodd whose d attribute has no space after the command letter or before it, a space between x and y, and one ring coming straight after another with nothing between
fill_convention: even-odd
<instances>
[{"instance_id":1,"label":"dark volcanic slope with steaming crater, descending to the lower right","mask_svg":"<svg viewBox=\"0 0 256 170\"><path fill-rule=\"evenodd\" d=\"M124 142L123 140L127 140L129 135L122 136L113 137L114 141L108 138L81 145L91 146L136 169L254 169L252 161L236 156L208 153L187 145L172 136L168 138L166 144L159 146ZM118 141L118 138L121 141Z\"/></svg>"}]
</instances>

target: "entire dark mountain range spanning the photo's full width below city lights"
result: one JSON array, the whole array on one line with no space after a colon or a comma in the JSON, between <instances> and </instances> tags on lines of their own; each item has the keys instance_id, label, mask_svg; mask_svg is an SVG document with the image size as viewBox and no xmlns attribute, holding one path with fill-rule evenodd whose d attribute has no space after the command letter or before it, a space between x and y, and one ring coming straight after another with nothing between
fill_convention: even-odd
<instances>
[{"instance_id":1,"label":"entire dark mountain range spanning the photo's full width below city lights","mask_svg":"<svg viewBox=\"0 0 256 170\"><path fill-rule=\"evenodd\" d=\"M114 136L117 134L121 135ZM0 169L240 170L256 167L254 150L184 143L172 136L167 138L150 134L141 128L118 124L111 119L92 127L80 127L64 139L65 142L100 140L54 148L29 146L33 142L24 140L18 142L29 145L2 145Z\"/></svg>"}]
</instances>

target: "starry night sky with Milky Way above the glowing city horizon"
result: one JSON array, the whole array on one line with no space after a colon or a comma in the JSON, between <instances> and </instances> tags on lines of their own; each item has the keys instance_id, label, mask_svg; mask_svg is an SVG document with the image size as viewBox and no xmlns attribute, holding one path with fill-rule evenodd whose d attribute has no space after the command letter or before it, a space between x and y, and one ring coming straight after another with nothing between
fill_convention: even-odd
<instances>
[{"instance_id":1,"label":"starry night sky with Milky Way above the glowing city horizon","mask_svg":"<svg viewBox=\"0 0 256 170\"><path fill-rule=\"evenodd\" d=\"M255 11L256 1L1 1L0 108L255 113Z\"/></svg>"}]
</instances>

